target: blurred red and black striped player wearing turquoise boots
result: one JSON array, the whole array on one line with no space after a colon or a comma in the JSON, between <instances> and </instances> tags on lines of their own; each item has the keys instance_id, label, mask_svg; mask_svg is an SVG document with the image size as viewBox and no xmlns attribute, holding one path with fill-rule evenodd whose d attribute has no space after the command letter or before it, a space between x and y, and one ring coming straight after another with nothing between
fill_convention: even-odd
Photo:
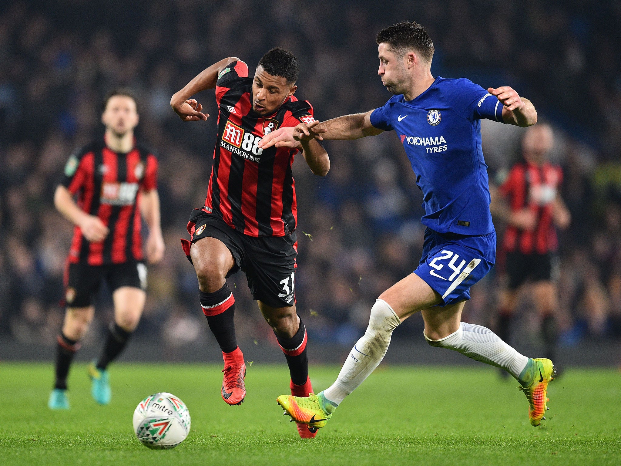
<instances>
[{"instance_id":1,"label":"blurred red and black striped player wearing turquoise boots","mask_svg":"<svg viewBox=\"0 0 621 466\"><path fill-rule=\"evenodd\" d=\"M145 304L147 267L142 253L141 212L147 221L147 260L164 254L157 193L157 160L134 138L136 100L127 89L109 93L101 116L103 139L76 150L54 195L58 211L75 224L65 273L67 304L58 335L56 381L48 406L69 407L66 377L79 340L93 320L93 298L106 280L114 301L106 343L89 367L97 403L111 398L107 365L120 354ZM77 196L76 203L73 196Z\"/></svg>"}]
</instances>

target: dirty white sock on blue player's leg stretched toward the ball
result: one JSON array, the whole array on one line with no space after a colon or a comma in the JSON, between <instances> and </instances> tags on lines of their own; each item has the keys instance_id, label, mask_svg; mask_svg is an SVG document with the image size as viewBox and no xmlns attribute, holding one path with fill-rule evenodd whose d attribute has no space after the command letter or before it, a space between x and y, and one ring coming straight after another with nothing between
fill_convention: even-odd
<instances>
[{"instance_id":1,"label":"dirty white sock on blue player's leg stretched toward the ball","mask_svg":"<svg viewBox=\"0 0 621 466\"><path fill-rule=\"evenodd\" d=\"M338 405L352 391L358 388L378 367L392 336L392 331L401 324L401 319L386 301L378 299L371 308L369 326L364 336L353 345L337 380L324 390L325 398Z\"/></svg>"}]
</instances>

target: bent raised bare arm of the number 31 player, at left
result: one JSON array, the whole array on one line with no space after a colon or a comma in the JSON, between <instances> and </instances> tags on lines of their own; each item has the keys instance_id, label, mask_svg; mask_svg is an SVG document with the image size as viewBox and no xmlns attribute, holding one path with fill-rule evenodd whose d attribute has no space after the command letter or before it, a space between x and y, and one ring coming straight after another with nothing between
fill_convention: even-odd
<instances>
[{"instance_id":1,"label":"bent raised bare arm of the number 31 player, at left","mask_svg":"<svg viewBox=\"0 0 621 466\"><path fill-rule=\"evenodd\" d=\"M202 105L199 104L196 99L190 99L191 96L197 94L205 89L215 88L215 83L218 80L220 71L224 70L230 62L239 62L239 58L229 57L224 60L220 60L217 63L205 68L198 75L194 76L194 79L186 84L183 89L173 94L170 99L170 106L179 118L183 121L207 121L209 114L202 113Z\"/></svg>"}]
</instances>

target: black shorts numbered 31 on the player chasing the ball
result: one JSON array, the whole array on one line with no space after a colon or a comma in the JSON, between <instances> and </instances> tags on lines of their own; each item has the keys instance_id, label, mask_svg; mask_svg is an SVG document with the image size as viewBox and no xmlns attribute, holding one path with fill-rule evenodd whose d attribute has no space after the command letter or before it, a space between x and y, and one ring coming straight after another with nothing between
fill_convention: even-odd
<instances>
[{"instance_id":1,"label":"black shorts numbered 31 on the player chasing the ball","mask_svg":"<svg viewBox=\"0 0 621 466\"><path fill-rule=\"evenodd\" d=\"M211 237L222 241L233 255L235 265L227 277L242 270L255 300L273 308L295 303L297 237L295 232L284 236L248 236L231 228L217 214L194 209L189 219L191 242ZM183 240L182 240L183 242ZM184 252L189 257L189 244Z\"/></svg>"}]
</instances>

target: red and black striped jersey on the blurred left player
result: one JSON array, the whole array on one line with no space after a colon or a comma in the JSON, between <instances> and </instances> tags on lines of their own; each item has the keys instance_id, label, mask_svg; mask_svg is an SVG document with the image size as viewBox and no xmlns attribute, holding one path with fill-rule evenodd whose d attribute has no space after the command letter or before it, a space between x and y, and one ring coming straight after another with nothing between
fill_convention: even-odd
<instances>
[{"instance_id":1,"label":"red and black striped jersey on the blurred left player","mask_svg":"<svg viewBox=\"0 0 621 466\"><path fill-rule=\"evenodd\" d=\"M127 153L114 152L103 139L76 150L65 165L61 185L78 194L78 206L96 215L110 229L106 239L89 242L78 226L68 260L104 265L142 260L140 191L157 188L155 155L135 144Z\"/></svg>"}]
</instances>

